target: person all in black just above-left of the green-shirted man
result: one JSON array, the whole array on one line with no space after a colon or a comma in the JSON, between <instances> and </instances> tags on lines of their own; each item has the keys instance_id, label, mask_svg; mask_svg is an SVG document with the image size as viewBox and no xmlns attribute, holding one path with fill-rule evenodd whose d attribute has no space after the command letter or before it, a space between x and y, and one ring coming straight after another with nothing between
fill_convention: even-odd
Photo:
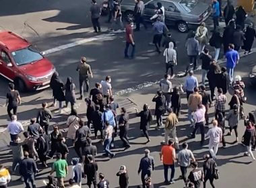
<instances>
[{"instance_id":1,"label":"person all in black just above-left of the green-shirted man","mask_svg":"<svg viewBox=\"0 0 256 188\"><path fill-rule=\"evenodd\" d=\"M43 167L47 167L46 164L46 154L50 149L50 139L49 136L44 134L43 130L39 130L39 138L36 140L36 150L40 162L42 162Z\"/></svg>"}]
</instances>

